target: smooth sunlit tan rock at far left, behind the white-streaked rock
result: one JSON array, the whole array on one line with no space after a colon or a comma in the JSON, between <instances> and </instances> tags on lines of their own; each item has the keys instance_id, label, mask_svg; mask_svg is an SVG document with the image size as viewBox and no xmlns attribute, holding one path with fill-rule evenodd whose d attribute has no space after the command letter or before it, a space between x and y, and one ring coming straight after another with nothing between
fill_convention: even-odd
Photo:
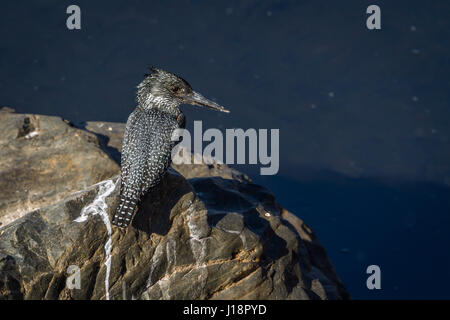
<instances>
[{"instance_id":1,"label":"smooth sunlit tan rock at far left, behind the white-streaked rock","mask_svg":"<svg viewBox=\"0 0 450 320\"><path fill-rule=\"evenodd\" d=\"M59 117L0 109L0 223L118 174L95 134Z\"/></svg>"}]
</instances>

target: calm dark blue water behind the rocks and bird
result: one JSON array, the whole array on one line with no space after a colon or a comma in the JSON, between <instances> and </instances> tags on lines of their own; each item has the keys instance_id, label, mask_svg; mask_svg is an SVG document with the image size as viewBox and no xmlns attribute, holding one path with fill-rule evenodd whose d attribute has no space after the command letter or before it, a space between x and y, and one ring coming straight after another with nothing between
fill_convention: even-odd
<instances>
[{"instance_id":1,"label":"calm dark blue water behind the rocks and bird","mask_svg":"<svg viewBox=\"0 0 450 320\"><path fill-rule=\"evenodd\" d=\"M381 30L366 28L369 4ZM353 298L450 298L450 2L0 8L1 105L124 122L146 66L175 72L232 110L183 107L188 127L280 128L279 174L240 168L312 226Z\"/></svg>"}]
</instances>

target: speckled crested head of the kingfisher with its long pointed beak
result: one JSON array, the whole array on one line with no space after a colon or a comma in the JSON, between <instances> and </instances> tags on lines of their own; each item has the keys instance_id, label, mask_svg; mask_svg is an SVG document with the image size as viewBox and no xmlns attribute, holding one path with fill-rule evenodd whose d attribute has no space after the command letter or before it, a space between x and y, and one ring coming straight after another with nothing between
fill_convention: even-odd
<instances>
[{"instance_id":1,"label":"speckled crested head of the kingfisher with its long pointed beak","mask_svg":"<svg viewBox=\"0 0 450 320\"><path fill-rule=\"evenodd\" d=\"M152 73L147 74L138 86L137 102L140 106L171 110L185 103L221 112L230 112L192 90L189 83L177 75L155 67L152 67L151 71Z\"/></svg>"}]
</instances>

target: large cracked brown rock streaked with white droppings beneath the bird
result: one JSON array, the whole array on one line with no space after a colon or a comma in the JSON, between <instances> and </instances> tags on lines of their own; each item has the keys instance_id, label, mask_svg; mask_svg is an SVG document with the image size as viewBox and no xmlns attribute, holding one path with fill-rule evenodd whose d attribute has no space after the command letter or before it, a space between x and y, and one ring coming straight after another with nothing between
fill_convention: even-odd
<instances>
[{"instance_id":1,"label":"large cracked brown rock streaked with white droppings beneath the bird","mask_svg":"<svg viewBox=\"0 0 450 320\"><path fill-rule=\"evenodd\" d=\"M85 128L115 157L123 125L104 124L111 136L95 126ZM109 224L117 179L0 229L1 298L348 298L311 229L240 172L219 164L170 169L127 230ZM79 288L67 285L75 274Z\"/></svg>"}]
</instances>

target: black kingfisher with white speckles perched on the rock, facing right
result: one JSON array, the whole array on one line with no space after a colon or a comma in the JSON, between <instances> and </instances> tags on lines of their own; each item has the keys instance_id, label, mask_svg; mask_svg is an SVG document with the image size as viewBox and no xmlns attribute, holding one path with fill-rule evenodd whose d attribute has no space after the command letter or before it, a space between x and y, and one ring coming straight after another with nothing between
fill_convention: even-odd
<instances>
[{"instance_id":1,"label":"black kingfisher with white speckles perched on the rock, facing right","mask_svg":"<svg viewBox=\"0 0 450 320\"><path fill-rule=\"evenodd\" d=\"M122 142L120 197L112 224L127 228L142 197L155 187L171 163L172 133L185 128L181 104L230 112L194 91L183 78L150 68L137 87L137 107L128 117Z\"/></svg>"}]
</instances>

